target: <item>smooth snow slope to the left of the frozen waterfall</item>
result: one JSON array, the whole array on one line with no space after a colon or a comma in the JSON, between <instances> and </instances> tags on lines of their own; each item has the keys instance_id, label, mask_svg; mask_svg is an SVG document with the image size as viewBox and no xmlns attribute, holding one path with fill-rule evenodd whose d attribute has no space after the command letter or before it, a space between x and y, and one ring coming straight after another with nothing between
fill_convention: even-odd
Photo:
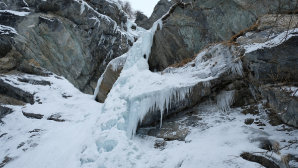
<instances>
[{"instance_id":1,"label":"smooth snow slope to the left of the frozen waterfall","mask_svg":"<svg viewBox=\"0 0 298 168\"><path fill-rule=\"evenodd\" d=\"M57 79L55 76L24 75L22 78L50 81L51 86L21 83L13 75L1 77L8 84L30 93L36 93L35 100L40 99L42 102L42 104L38 104L38 102L33 105L26 104L23 108L8 105L14 109L14 112L1 119L5 124L1 124L0 134L8 134L0 138L0 158L9 154L9 157L17 157L17 159L16 162L5 167L79 167L76 155L81 152L81 145L85 142L86 137L92 134L92 126L96 122L97 111L102 104L92 100L90 95L81 93L63 77L60 77L63 80ZM10 82L5 79L9 79ZM73 97L63 98L62 94ZM26 118L22 111L42 114L44 117L41 120ZM53 113L61 114L62 118L67 121L47 120ZM35 129L41 131L30 133ZM22 143L23 146L17 149ZM23 149L28 150L23 151Z\"/></svg>"}]
</instances>

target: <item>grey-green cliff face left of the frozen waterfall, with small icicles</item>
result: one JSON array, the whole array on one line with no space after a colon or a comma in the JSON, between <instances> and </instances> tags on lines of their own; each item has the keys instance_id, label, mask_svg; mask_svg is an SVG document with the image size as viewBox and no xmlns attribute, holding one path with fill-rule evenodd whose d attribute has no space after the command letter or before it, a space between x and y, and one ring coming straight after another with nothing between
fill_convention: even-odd
<instances>
[{"instance_id":1,"label":"grey-green cliff face left of the frozen waterfall, with small icicles","mask_svg":"<svg viewBox=\"0 0 298 168\"><path fill-rule=\"evenodd\" d=\"M93 94L107 63L126 53L127 39L134 38L126 32L125 12L112 1L1 2L7 11L25 8L27 13L1 11L0 25L15 32L0 35L0 71L45 75L40 71L46 69ZM31 68L32 62L38 66Z\"/></svg>"}]
</instances>

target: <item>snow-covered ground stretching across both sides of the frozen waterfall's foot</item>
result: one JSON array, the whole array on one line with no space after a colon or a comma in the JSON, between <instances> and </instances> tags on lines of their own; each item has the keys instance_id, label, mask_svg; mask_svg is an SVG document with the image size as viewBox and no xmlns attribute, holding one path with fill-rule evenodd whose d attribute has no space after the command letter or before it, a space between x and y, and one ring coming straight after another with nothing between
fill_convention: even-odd
<instances>
[{"instance_id":1,"label":"snow-covered ground stretching across both sides of the frozen waterfall's foot","mask_svg":"<svg viewBox=\"0 0 298 168\"><path fill-rule=\"evenodd\" d=\"M15 76L1 78L9 78L11 82L7 83L16 87L37 92L34 97L42 102L27 104L25 108L11 106L15 111L2 119L4 123L0 126L0 135L7 134L0 138L0 158L11 158L4 168L258 168L258 164L245 163L241 158L224 161L233 159L228 156L239 156L242 152L265 151L259 148L260 138L286 146L298 135L297 130L279 131L281 126L273 127L267 123L268 116L261 105L260 115L253 116L243 115L237 108L232 108L232 112L226 115L216 104L205 104L195 114L202 118L201 124L190 128L185 141L167 141L163 150L155 149L155 141L161 139L137 135L134 140L129 140L119 130L116 135L107 135L106 131L96 134L100 130L96 122L102 118L100 111L103 104L81 93L65 79L54 76L23 77L52 83L51 86L44 86L18 82ZM63 95L72 97L64 98ZM44 117L40 120L27 118L22 111ZM61 119L66 121L47 120L51 114L61 114ZM259 118L258 121L266 124L264 130L255 124L245 125L247 118ZM109 136L118 141L123 138L127 144L122 142L122 146L118 146L118 142L117 146L112 146L114 149L105 145L98 149L100 144L93 138ZM289 153L298 155L296 148L292 146L287 151L281 151L281 155L274 154L273 158L278 161ZM128 150L125 151L126 155L122 155L123 149ZM114 160L103 162L111 158ZM118 162L122 160L127 162ZM118 165L115 166L116 163Z\"/></svg>"}]
</instances>

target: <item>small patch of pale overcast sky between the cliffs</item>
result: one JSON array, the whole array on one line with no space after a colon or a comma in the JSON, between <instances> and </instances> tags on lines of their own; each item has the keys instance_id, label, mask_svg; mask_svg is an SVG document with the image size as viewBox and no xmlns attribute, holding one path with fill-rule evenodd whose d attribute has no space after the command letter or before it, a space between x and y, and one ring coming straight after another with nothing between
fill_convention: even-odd
<instances>
[{"instance_id":1,"label":"small patch of pale overcast sky between the cliffs","mask_svg":"<svg viewBox=\"0 0 298 168\"><path fill-rule=\"evenodd\" d=\"M133 9L141 10L148 17L152 14L153 9L159 0L129 0L132 3Z\"/></svg>"}]
</instances>

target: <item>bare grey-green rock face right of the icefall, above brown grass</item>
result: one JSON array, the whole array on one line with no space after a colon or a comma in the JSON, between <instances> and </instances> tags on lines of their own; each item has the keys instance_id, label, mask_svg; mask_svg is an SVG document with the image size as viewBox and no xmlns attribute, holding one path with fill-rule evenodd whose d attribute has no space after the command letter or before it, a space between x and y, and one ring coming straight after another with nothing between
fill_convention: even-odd
<instances>
[{"instance_id":1,"label":"bare grey-green rock face right of the icefall, above brown grass","mask_svg":"<svg viewBox=\"0 0 298 168\"><path fill-rule=\"evenodd\" d=\"M164 21L162 30L154 35L150 71L163 71L169 65L192 58L206 45L227 41L263 14L274 11L274 0L267 6L262 3L247 6L248 1L196 0L183 9L177 7Z\"/></svg>"}]
</instances>

